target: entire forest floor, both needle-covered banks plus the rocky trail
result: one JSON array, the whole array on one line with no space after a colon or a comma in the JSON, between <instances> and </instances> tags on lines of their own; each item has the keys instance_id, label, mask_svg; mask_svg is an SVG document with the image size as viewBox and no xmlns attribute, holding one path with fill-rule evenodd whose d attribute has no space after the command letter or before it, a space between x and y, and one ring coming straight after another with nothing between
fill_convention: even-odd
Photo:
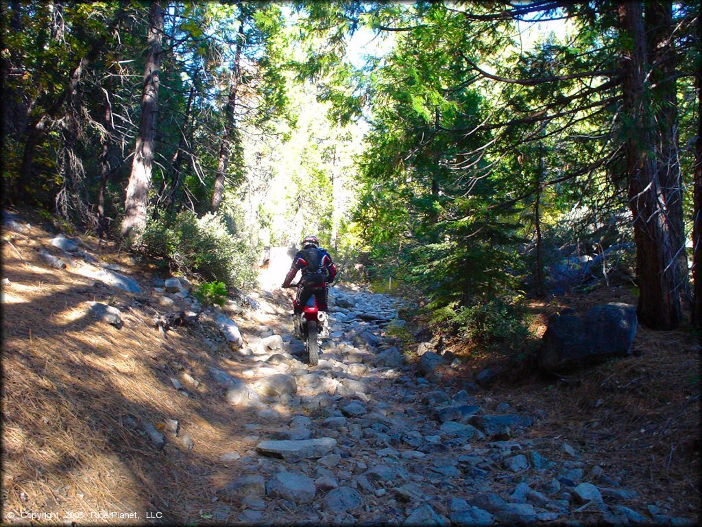
<instances>
[{"instance_id":1,"label":"entire forest floor, both needle-covered banks plus the rocky trail","mask_svg":"<svg viewBox=\"0 0 702 527\"><path fill-rule=\"evenodd\" d=\"M524 370L467 393L465 381L491 358L433 373L397 362L383 331L395 299L338 287L331 337L310 368L296 359L286 292L251 294L252 306L225 311L246 353L227 346L214 314L164 336L152 318L192 306L154 289L156 266L82 238L88 254L141 286L123 292L95 278L100 267L53 248L36 224L3 238L4 522L699 519L699 356L686 330L640 328L629 358L562 379ZM48 267L41 247L69 266ZM609 294L534 310L543 321ZM119 308L124 326L95 319L91 301ZM248 403L227 401L230 381L246 383ZM509 427L489 426L509 416ZM308 437L333 445L310 456L260 446Z\"/></svg>"}]
</instances>

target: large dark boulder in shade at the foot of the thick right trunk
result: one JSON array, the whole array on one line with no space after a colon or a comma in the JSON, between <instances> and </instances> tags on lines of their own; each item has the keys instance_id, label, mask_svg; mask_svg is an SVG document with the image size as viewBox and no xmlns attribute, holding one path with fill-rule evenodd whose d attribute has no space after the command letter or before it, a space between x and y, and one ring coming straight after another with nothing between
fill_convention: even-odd
<instances>
[{"instance_id":1,"label":"large dark boulder in shade at the foot of the thick right trunk","mask_svg":"<svg viewBox=\"0 0 702 527\"><path fill-rule=\"evenodd\" d=\"M636 325L636 309L629 304L595 306L583 317L552 315L541 341L538 364L550 372L567 372L628 356Z\"/></svg>"}]
</instances>

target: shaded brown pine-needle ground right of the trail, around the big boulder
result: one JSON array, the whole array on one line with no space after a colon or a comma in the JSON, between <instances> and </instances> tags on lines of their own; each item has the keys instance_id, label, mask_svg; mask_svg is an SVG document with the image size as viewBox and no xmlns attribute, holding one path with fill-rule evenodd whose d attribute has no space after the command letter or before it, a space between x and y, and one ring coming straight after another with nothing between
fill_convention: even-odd
<instances>
[{"instance_id":1,"label":"shaded brown pine-needle ground right of the trail, around the big boulder","mask_svg":"<svg viewBox=\"0 0 702 527\"><path fill-rule=\"evenodd\" d=\"M531 304L532 332L541 336L548 315L570 307L579 313L595 304L635 304L629 290L602 287L590 294ZM527 368L514 369L483 392L525 412L544 416L528 436L552 445L547 457L559 459L567 441L600 462L605 474L637 490L638 505L673 499L672 514L699 516L700 485L700 355L689 327L652 331L639 327L633 356L611 360L561 378L542 377ZM470 377L496 362L494 356L472 356L461 375ZM499 362L499 361L498 361Z\"/></svg>"}]
</instances>

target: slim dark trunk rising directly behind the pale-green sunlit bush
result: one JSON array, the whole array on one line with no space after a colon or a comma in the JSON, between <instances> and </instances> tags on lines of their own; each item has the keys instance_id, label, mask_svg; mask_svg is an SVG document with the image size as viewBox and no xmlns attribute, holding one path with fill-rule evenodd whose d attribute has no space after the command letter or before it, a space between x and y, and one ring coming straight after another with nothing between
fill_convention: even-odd
<instances>
[{"instance_id":1,"label":"slim dark trunk rising directly behind the pale-green sunlit bush","mask_svg":"<svg viewBox=\"0 0 702 527\"><path fill-rule=\"evenodd\" d=\"M241 80L241 46L244 45L244 22L246 15L244 7L239 6L241 15L239 15L239 38L237 38L237 48L234 53L234 74L232 78L232 87L227 100L227 108L225 114L224 134L222 143L220 144L219 159L217 161L217 176L215 178L215 188L212 193L211 211L217 212L224 197L224 183L229 167L229 156L232 150L232 144L240 141L237 123L234 120L234 112L237 109L237 97L239 91L239 82Z\"/></svg>"}]
</instances>

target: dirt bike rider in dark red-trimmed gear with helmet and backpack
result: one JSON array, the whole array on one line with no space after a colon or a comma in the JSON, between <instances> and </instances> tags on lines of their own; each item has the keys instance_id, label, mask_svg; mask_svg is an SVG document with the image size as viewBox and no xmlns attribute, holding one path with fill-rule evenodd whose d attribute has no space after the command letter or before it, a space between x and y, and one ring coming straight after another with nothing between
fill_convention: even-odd
<instances>
[{"instance_id":1,"label":"dirt bike rider in dark red-trimmed gear with helmet and backpack","mask_svg":"<svg viewBox=\"0 0 702 527\"><path fill-rule=\"evenodd\" d=\"M302 272L302 278L298 282L298 292L293 300L293 319L296 329L298 315L303 312L303 307L313 294L317 300L317 309L326 313L329 284L336 278L336 266L329 253L319 247L317 236L305 236L302 247L293 258L293 264L283 282L283 287L290 287L290 282L298 271ZM320 335L328 334L329 317L324 317Z\"/></svg>"}]
</instances>

